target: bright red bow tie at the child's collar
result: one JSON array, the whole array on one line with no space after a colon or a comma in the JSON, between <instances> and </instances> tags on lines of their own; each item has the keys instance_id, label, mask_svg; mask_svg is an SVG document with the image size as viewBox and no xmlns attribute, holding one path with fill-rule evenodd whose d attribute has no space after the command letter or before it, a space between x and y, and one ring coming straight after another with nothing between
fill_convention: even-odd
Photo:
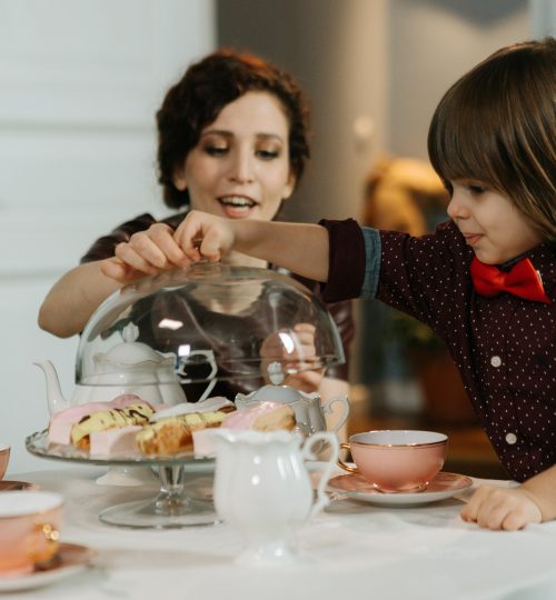
<instances>
[{"instance_id":1,"label":"bright red bow tie at the child's collar","mask_svg":"<svg viewBox=\"0 0 556 600\"><path fill-rule=\"evenodd\" d=\"M480 262L474 257L470 266L473 284L477 293L493 298L502 292L513 293L526 300L550 304L550 299L543 288L540 276L529 259L516 262L509 271Z\"/></svg>"}]
</instances>

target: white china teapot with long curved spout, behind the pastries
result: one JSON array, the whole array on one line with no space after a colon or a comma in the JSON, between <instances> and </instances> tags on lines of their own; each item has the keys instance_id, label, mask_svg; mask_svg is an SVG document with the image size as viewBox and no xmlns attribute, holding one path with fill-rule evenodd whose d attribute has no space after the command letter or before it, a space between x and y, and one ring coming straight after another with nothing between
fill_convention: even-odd
<instances>
[{"instance_id":1,"label":"white china teapot with long curved spout, behind the pastries","mask_svg":"<svg viewBox=\"0 0 556 600\"><path fill-rule=\"evenodd\" d=\"M47 380L50 414L70 406L107 402L122 393L136 393L153 404L173 406L186 402L186 394L173 370L176 357L161 354L137 340L138 329L128 323L122 331L123 342L106 353L93 357L92 373L83 377L70 400L61 392L60 381L49 360L34 362Z\"/></svg>"}]
</instances>

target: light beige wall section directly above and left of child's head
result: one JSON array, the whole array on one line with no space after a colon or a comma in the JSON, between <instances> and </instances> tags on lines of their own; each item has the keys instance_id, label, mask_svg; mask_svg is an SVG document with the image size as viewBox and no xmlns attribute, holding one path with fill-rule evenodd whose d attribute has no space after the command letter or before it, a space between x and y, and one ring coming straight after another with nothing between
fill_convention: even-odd
<instances>
[{"instance_id":1,"label":"light beige wall section directly above and left of child's head","mask_svg":"<svg viewBox=\"0 0 556 600\"><path fill-rule=\"evenodd\" d=\"M464 72L532 37L527 0L391 0L388 150L427 160L436 104Z\"/></svg>"}]
</instances>

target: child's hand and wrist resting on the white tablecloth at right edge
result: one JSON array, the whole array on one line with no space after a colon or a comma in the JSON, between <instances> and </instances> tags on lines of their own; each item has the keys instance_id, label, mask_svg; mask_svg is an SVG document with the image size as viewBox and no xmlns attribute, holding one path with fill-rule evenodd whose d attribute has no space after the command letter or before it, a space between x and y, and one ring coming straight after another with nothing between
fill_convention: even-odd
<instances>
[{"instance_id":1,"label":"child's hand and wrist resting on the white tablecloth at right edge","mask_svg":"<svg viewBox=\"0 0 556 600\"><path fill-rule=\"evenodd\" d=\"M556 464L518 488L481 486L461 510L461 518L508 531L556 519Z\"/></svg>"}]
</instances>

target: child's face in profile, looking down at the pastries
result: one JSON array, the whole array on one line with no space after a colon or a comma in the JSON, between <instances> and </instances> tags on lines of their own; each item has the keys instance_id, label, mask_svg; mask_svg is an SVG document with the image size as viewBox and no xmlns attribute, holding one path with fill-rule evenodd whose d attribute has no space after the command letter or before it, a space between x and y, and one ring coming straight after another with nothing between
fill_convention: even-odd
<instances>
[{"instance_id":1,"label":"child's face in profile, looking down at the pastries","mask_svg":"<svg viewBox=\"0 0 556 600\"><path fill-rule=\"evenodd\" d=\"M481 262L502 264L540 243L540 234L505 196L481 181L450 183L448 214Z\"/></svg>"}]
</instances>

